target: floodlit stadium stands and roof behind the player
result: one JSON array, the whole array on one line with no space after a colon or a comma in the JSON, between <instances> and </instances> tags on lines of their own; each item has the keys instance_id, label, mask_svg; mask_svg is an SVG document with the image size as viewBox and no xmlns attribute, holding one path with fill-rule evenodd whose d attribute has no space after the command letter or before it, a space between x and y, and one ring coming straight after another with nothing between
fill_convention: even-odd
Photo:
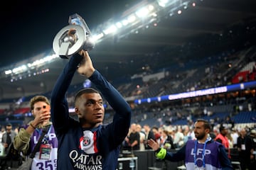
<instances>
[{"instance_id":1,"label":"floodlit stadium stands and roof behind the player","mask_svg":"<svg viewBox=\"0 0 256 170\"><path fill-rule=\"evenodd\" d=\"M129 103L132 123L168 130L174 137L178 129L193 131L193 123L203 118L215 134L225 124L230 134L245 129L250 135L256 128L254 6L252 0L134 1L90 27L95 35L90 57ZM67 62L50 48L1 64L0 125L18 128L33 120L30 99L50 98ZM70 117L77 119L75 93L90 86L75 74L67 93ZM104 123L111 123L114 111L104 104ZM231 154L233 167L242 169L236 147ZM182 169L183 164L159 162L151 150L122 149L117 169Z\"/></svg>"}]
</instances>

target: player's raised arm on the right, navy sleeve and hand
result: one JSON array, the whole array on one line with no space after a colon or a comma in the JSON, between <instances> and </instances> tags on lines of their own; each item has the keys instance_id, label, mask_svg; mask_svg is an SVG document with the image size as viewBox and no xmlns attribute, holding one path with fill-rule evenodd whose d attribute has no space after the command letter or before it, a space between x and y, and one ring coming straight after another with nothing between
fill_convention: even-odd
<instances>
[{"instance_id":1,"label":"player's raised arm on the right, navy sleeve and hand","mask_svg":"<svg viewBox=\"0 0 256 170\"><path fill-rule=\"evenodd\" d=\"M131 123L131 108L124 98L119 94L117 89L110 84L107 79L102 77L100 72L97 72L92 66L92 61L86 51L82 53L84 59L80 62L78 73L89 78L96 88L100 91L102 96L107 100L110 106L114 109L113 123L110 125L110 132L112 132L112 140L114 144L118 145L126 137Z\"/></svg>"}]
</instances>

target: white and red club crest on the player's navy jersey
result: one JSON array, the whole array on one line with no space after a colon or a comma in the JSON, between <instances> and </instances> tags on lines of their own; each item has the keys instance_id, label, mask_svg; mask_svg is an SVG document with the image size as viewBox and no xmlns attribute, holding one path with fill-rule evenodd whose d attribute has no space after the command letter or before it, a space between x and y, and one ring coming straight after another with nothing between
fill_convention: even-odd
<instances>
[{"instance_id":1,"label":"white and red club crest on the player's navy jersey","mask_svg":"<svg viewBox=\"0 0 256 170\"><path fill-rule=\"evenodd\" d=\"M90 130L85 130L83 136L80 137L80 149L87 154L95 154L97 152L96 145L96 133L92 133Z\"/></svg>"}]
</instances>

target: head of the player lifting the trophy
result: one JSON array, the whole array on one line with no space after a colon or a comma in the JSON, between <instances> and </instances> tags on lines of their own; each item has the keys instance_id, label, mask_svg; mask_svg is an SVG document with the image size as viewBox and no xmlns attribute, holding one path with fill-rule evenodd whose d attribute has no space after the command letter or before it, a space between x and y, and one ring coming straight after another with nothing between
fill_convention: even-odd
<instances>
[{"instance_id":1,"label":"head of the player lifting the trophy","mask_svg":"<svg viewBox=\"0 0 256 170\"><path fill-rule=\"evenodd\" d=\"M105 108L100 94L82 94L76 113L82 124L88 128L103 122Z\"/></svg>"}]
</instances>

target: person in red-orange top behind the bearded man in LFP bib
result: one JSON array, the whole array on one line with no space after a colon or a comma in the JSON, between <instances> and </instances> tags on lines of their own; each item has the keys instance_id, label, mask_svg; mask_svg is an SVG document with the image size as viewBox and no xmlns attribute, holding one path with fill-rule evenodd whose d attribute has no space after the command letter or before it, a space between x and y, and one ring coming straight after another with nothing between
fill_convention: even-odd
<instances>
[{"instance_id":1,"label":"person in red-orange top behind the bearded man in LFP bib","mask_svg":"<svg viewBox=\"0 0 256 170\"><path fill-rule=\"evenodd\" d=\"M228 142L228 126L221 124L220 125L220 132L219 134L215 137L215 141L220 142L224 147L226 152L228 152L228 158L231 159L230 156L230 146Z\"/></svg>"}]
</instances>

